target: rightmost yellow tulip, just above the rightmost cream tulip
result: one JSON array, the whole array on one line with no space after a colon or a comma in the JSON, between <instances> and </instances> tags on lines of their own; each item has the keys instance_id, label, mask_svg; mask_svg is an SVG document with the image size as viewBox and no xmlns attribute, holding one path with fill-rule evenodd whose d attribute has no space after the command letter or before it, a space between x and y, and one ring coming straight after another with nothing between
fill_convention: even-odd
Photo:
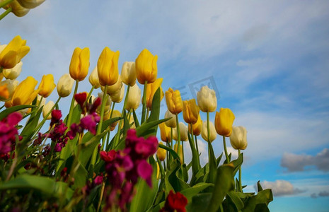
<instances>
[{"instance_id":1,"label":"rightmost yellow tulip, just above the rightmost cream tulip","mask_svg":"<svg viewBox=\"0 0 329 212\"><path fill-rule=\"evenodd\" d=\"M235 117L229 108L222 108L219 112L216 112L215 116L215 128L217 134L221 136L229 137L232 133L232 124Z\"/></svg>"}]
</instances>

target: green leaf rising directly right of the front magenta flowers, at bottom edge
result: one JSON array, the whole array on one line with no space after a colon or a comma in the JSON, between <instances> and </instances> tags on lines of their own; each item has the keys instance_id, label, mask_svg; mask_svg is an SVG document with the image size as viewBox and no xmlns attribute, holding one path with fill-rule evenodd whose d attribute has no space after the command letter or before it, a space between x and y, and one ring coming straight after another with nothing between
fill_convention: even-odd
<instances>
[{"instance_id":1,"label":"green leaf rising directly right of the front magenta flowers, at bottom edge","mask_svg":"<svg viewBox=\"0 0 329 212\"><path fill-rule=\"evenodd\" d=\"M156 193L158 192L158 180L156 179L156 161L153 157L150 157L149 163L154 170L154 172L152 172L152 187L150 188L144 179L139 179L136 184L137 194L134 196L132 203L130 204L130 212L148 211L151 208L154 199L156 199Z\"/></svg>"}]
</instances>

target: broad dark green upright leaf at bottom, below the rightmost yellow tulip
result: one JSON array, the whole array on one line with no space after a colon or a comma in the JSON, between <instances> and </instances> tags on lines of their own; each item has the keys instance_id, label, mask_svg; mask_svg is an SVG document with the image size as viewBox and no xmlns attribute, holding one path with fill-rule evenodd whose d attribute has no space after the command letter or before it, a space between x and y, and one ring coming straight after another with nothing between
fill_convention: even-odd
<instances>
[{"instance_id":1,"label":"broad dark green upright leaf at bottom, below the rightmost yellow tulip","mask_svg":"<svg viewBox=\"0 0 329 212\"><path fill-rule=\"evenodd\" d=\"M217 211L226 194L234 189L233 170L231 163L218 167L216 183L207 211Z\"/></svg>"}]
</instances>

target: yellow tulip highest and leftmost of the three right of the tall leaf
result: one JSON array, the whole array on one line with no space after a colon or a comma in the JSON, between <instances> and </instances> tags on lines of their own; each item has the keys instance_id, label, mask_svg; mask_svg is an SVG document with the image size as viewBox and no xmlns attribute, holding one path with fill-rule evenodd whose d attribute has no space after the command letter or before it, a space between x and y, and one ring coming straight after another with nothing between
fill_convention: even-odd
<instances>
[{"instance_id":1,"label":"yellow tulip highest and leftmost of the three right of the tall leaf","mask_svg":"<svg viewBox=\"0 0 329 212\"><path fill-rule=\"evenodd\" d=\"M169 88L166 91L166 103L168 110L172 114L179 114L183 110L183 101L182 98L180 98L179 90L173 91L172 88Z\"/></svg>"}]
</instances>

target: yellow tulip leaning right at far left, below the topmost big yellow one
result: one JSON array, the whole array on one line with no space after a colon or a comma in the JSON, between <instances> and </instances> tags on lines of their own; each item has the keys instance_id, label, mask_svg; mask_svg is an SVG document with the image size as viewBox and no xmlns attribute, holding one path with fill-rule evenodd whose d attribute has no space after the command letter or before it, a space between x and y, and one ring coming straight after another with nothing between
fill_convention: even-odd
<instances>
[{"instance_id":1,"label":"yellow tulip leaning right at far left, below the topmost big yellow one","mask_svg":"<svg viewBox=\"0 0 329 212\"><path fill-rule=\"evenodd\" d=\"M37 97L39 89L34 90L37 86L37 81L32 76L28 76L23 80L13 92L11 98L11 105L30 105L30 103Z\"/></svg>"}]
</instances>

